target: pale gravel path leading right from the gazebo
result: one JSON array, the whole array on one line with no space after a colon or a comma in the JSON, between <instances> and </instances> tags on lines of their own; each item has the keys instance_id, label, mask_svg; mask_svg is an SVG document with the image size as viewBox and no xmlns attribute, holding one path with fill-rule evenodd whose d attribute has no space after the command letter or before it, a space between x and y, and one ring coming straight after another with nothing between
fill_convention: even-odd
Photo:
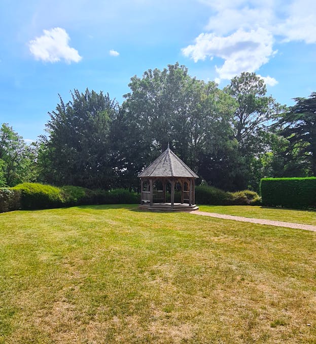
<instances>
[{"instance_id":1,"label":"pale gravel path leading right from the gazebo","mask_svg":"<svg viewBox=\"0 0 316 344\"><path fill-rule=\"evenodd\" d=\"M206 211L199 211L199 210L193 210L193 211L190 211L190 213L196 214L196 215L202 215L202 216L210 216L212 218L251 222L253 224L303 229L305 231L316 232L316 226L312 226L312 225L304 225L304 224L296 224L292 222L273 221L273 220L264 220L264 219L244 218L242 216L232 216L232 215L226 215L226 214L218 214L216 212L206 212Z\"/></svg>"}]
</instances>

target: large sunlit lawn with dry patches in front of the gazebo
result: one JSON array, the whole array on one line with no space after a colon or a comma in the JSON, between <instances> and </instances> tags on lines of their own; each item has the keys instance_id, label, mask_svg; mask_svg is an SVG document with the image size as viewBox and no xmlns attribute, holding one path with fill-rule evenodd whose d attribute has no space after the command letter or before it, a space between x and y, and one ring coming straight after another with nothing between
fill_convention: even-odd
<instances>
[{"instance_id":1,"label":"large sunlit lawn with dry patches in front of the gazebo","mask_svg":"<svg viewBox=\"0 0 316 344\"><path fill-rule=\"evenodd\" d=\"M314 343L315 247L130 205L3 213L0 343Z\"/></svg>"}]
</instances>

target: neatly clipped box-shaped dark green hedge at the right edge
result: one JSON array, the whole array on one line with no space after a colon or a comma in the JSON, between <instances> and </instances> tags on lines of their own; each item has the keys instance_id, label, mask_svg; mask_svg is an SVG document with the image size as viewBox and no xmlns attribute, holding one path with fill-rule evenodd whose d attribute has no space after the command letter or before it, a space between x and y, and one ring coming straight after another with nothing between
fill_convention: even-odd
<instances>
[{"instance_id":1,"label":"neatly clipped box-shaped dark green hedge at the right edge","mask_svg":"<svg viewBox=\"0 0 316 344\"><path fill-rule=\"evenodd\" d=\"M316 177L263 178L262 204L286 208L316 208Z\"/></svg>"}]
</instances>

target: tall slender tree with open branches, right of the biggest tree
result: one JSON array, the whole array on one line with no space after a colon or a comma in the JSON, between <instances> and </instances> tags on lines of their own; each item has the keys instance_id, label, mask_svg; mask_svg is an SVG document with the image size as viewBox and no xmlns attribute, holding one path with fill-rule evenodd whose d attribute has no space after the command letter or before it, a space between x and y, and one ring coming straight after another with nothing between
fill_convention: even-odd
<instances>
[{"instance_id":1,"label":"tall slender tree with open branches, right of the biggest tree","mask_svg":"<svg viewBox=\"0 0 316 344\"><path fill-rule=\"evenodd\" d=\"M256 73L243 72L231 79L224 89L237 102L232 127L238 142L238 188L258 191L260 179L268 170L271 147L267 132L269 124L283 107L267 96L264 80Z\"/></svg>"}]
</instances>

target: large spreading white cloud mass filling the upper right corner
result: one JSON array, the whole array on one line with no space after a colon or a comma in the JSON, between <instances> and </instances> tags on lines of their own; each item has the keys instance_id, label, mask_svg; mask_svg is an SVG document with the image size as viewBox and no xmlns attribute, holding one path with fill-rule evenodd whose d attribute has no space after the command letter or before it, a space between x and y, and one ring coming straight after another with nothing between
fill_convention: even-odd
<instances>
[{"instance_id":1,"label":"large spreading white cloud mass filling the upper right corner","mask_svg":"<svg viewBox=\"0 0 316 344\"><path fill-rule=\"evenodd\" d=\"M276 53L276 41L316 43L316 2L314 0L199 0L212 15L206 32L195 38L182 53L195 62L219 57L215 66L221 79L242 71L254 72ZM266 84L277 81L263 77Z\"/></svg>"}]
</instances>

